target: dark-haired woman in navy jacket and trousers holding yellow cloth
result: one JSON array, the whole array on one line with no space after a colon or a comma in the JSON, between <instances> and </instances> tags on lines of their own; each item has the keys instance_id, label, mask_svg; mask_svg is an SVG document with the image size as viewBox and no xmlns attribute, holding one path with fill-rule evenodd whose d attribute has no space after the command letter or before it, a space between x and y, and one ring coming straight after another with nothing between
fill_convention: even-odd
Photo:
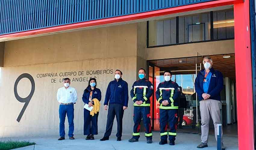
<instances>
[{"instance_id":1,"label":"dark-haired woman in navy jacket and trousers holding yellow cloth","mask_svg":"<svg viewBox=\"0 0 256 150\"><path fill-rule=\"evenodd\" d=\"M100 89L96 88L96 85L96 79L91 78L87 88L83 92L83 102L92 107L94 105L94 102L92 101L94 98L97 98L99 101L101 101L101 91ZM83 135L87 135L86 140L94 140L94 135L98 134L98 115L99 112L94 116L91 116L89 110L83 110Z\"/></svg>"}]
</instances>

